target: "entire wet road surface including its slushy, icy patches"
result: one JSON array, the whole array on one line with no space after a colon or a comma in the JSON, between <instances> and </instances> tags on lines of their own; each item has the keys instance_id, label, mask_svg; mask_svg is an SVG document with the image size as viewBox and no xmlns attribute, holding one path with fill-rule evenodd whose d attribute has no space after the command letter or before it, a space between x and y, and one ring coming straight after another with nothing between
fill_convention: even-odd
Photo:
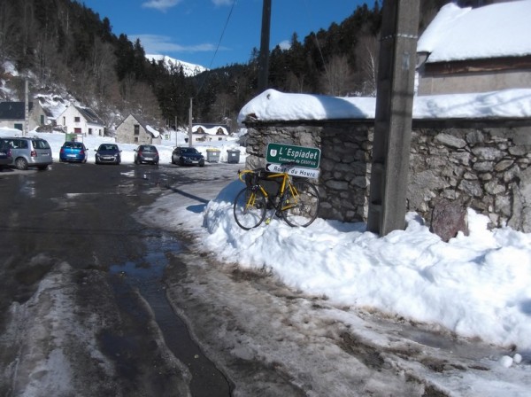
<instances>
[{"instance_id":1,"label":"entire wet road surface including its slushy, icy patches","mask_svg":"<svg viewBox=\"0 0 531 397\"><path fill-rule=\"evenodd\" d=\"M527 363L497 363L506 348L335 307L146 222L165 193L203 206L228 166L0 174L0 395L527 395Z\"/></svg>"}]
</instances>

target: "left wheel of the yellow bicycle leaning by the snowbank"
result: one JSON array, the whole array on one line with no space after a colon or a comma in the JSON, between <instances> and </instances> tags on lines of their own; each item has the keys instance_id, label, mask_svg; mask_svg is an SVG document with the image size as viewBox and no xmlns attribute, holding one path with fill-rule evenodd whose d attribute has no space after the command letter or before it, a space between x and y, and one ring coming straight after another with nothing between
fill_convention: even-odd
<instances>
[{"instance_id":1,"label":"left wheel of the yellow bicycle leaning by the snowbank","mask_svg":"<svg viewBox=\"0 0 531 397\"><path fill-rule=\"evenodd\" d=\"M256 228L266 218L266 208L262 191L245 188L235 199L235 221L244 230Z\"/></svg>"}]
</instances>

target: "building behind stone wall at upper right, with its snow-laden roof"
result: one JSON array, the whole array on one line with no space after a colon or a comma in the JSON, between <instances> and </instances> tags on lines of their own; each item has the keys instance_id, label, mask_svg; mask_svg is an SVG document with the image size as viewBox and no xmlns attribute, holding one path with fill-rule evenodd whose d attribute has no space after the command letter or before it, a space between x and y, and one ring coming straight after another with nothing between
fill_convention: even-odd
<instances>
[{"instance_id":1,"label":"building behind stone wall at upper right, with its snow-laden roof","mask_svg":"<svg viewBox=\"0 0 531 397\"><path fill-rule=\"evenodd\" d=\"M419 38L418 94L531 88L529 15L529 1L444 5Z\"/></svg>"}]
</instances>

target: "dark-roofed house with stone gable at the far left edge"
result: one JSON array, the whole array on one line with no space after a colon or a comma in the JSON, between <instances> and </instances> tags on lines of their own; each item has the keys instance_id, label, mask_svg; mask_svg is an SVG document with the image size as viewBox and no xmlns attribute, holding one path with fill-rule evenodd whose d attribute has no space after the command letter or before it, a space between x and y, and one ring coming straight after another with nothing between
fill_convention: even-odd
<instances>
[{"instance_id":1,"label":"dark-roofed house with stone gable at the far left edge","mask_svg":"<svg viewBox=\"0 0 531 397\"><path fill-rule=\"evenodd\" d=\"M38 101L28 102L28 126L31 131L48 123L48 118ZM26 126L25 102L0 102L0 127L24 131Z\"/></svg>"}]
</instances>

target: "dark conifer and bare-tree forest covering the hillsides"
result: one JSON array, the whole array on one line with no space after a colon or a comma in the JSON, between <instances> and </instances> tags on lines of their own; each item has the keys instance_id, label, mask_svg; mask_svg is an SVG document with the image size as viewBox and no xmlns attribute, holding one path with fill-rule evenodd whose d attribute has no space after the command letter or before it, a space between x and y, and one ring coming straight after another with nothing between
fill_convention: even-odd
<instances>
[{"instance_id":1,"label":"dark conifer and bare-tree forest covering the hillsides","mask_svg":"<svg viewBox=\"0 0 531 397\"><path fill-rule=\"evenodd\" d=\"M419 32L450 0L420 2ZM484 5L465 0L460 5ZM343 21L304 38L291 37L289 50L269 55L268 87L285 92L334 96L373 96L376 90L381 1L358 6ZM194 120L235 127L242 105L258 94L258 50L247 64L234 64L186 77L149 61L138 41L112 32L112 21L77 0L0 0L0 79L12 97L23 97L24 76L31 94L61 88L96 110L107 125L117 114L141 114L155 125L187 125L189 99ZM7 76L12 61L19 77Z\"/></svg>"}]
</instances>

